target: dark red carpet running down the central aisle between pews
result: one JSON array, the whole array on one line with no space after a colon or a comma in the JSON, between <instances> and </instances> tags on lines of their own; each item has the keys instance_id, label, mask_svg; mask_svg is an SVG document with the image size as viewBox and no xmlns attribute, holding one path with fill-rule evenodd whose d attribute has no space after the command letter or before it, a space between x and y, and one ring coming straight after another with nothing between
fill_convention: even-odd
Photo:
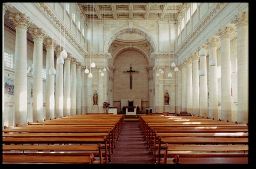
<instances>
[{"instance_id":1,"label":"dark red carpet running down the central aisle between pews","mask_svg":"<svg viewBox=\"0 0 256 169\"><path fill-rule=\"evenodd\" d=\"M123 125L111 164L154 164L138 121Z\"/></svg>"}]
</instances>

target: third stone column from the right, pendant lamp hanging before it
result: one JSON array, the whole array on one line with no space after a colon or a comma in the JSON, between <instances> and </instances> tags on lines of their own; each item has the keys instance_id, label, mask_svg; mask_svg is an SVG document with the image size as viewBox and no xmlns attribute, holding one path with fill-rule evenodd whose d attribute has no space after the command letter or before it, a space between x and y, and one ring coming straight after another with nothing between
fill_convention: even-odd
<instances>
[{"instance_id":1,"label":"third stone column from the right, pendant lamp hanging before it","mask_svg":"<svg viewBox=\"0 0 256 169\"><path fill-rule=\"evenodd\" d=\"M217 47L219 38L215 36L209 39L209 60L213 59L217 62ZM209 118L218 119L218 79L217 64L209 65Z\"/></svg>"}]
</instances>

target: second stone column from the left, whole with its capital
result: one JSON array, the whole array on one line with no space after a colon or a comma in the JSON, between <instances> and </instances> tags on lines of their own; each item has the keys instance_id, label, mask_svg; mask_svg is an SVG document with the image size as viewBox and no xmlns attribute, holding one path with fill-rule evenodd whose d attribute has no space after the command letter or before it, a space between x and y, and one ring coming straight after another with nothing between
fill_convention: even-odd
<instances>
[{"instance_id":1,"label":"second stone column from the left, whole with its capital","mask_svg":"<svg viewBox=\"0 0 256 169\"><path fill-rule=\"evenodd\" d=\"M42 42L45 31L41 28L29 28L33 37L33 122L42 121Z\"/></svg>"}]
</instances>

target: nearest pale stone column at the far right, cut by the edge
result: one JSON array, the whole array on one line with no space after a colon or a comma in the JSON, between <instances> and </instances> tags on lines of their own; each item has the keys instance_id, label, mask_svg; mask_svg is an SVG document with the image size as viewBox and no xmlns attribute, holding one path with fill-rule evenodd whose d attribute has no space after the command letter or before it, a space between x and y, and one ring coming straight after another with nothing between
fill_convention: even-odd
<instances>
[{"instance_id":1,"label":"nearest pale stone column at the far right, cut by the edge","mask_svg":"<svg viewBox=\"0 0 256 169\"><path fill-rule=\"evenodd\" d=\"M248 12L233 21L237 27L237 122L248 123Z\"/></svg>"}]
</instances>

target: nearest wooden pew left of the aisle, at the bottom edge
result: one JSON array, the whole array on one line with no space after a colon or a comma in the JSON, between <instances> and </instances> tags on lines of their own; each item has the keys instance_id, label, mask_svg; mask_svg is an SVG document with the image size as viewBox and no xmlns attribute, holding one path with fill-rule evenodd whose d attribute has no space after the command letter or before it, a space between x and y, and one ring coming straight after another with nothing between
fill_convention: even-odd
<instances>
[{"instance_id":1,"label":"nearest wooden pew left of the aisle, at the bottom edge","mask_svg":"<svg viewBox=\"0 0 256 169\"><path fill-rule=\"evenodd\" d=\"M93 164L94 155L90 156L27 156L27 155L2 155L3 164Z\"/></svg>"}]
</instances>

